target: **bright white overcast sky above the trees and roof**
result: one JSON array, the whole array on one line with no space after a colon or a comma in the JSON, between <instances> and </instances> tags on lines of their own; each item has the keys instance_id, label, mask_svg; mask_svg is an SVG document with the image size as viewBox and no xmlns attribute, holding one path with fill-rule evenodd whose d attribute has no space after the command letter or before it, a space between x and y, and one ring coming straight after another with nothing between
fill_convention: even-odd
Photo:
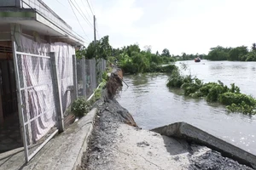
<instances>
[{"instance_id":1,"label":"bright white overcast sky above the trees and roof","mask_svg":"<svg viewBox=\"0 0 256 170\"><path fill-rule=\"evenodd\" d=\"M171 54L208 54L210 48L251 47L256 42L255 0L43 0L73 31L93 40L93 14L97 39L109 36L113 48L138 43L152 52L168 48ZM82 12L80 12L82 13ZM85 43L85 46L88 43Z\"/></svg>"}]
</instances>

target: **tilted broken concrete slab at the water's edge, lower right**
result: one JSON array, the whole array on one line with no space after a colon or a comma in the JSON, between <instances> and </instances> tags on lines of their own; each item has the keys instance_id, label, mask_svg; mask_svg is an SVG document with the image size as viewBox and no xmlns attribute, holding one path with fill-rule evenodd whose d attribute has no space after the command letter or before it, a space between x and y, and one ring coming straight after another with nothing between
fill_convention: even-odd
<instances>
[{"instance_id":1,"label":"tilted broken concrete slab at the water's edge, lower right","mask_svg":"<svg viewBox=\"0 0 256 170\"><path fill-rule=\"evenodd\" d=\"M234 161L256 168L256 156L225 142L222 139L209 134L198 127L194 127L186 122L176 122L163 127L157 127L151 131L161 135L185 139L188 142L205 145L212 150L219 151L223 156L230 157Z\"/></svg>"}]
</instances>

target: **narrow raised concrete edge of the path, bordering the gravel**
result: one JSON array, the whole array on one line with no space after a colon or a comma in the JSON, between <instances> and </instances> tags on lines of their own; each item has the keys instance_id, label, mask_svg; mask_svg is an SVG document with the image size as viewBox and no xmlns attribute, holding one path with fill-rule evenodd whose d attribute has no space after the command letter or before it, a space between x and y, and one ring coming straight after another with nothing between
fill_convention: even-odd
<instances>
[{"instance_id":1,"label":"narrow raised concrete edge of the path, bordering the gravel","mask_svg":"<svg viewBox=\"0 0 256 170\"><path fill-rule=\"evenodd\" d=\"M84 152L87 150L87 146L88 146L88 142L89 142L89 138L90 138L90 135L92 133L92 130L93 130L93 126L94 126L94 121L95 121L95 117L96 117L96 113L97 113L97 109L96 108L93 108L92 110L89 111L89 113L86 115L86 116L90 116L90 120L86 123L90 123L90 129L89 131L87 132L87 135L85 136L84 138L84 142L79 150L79 153L78 153L78 156L77 156L77 159L73 165L73 170L76 170L77 167L79 167L82 163L82 157L83 157L83 154ZM85 116L84 116L85 117ZM83 117L82 117L83 119Z\"/></svg>"}]
</instances>

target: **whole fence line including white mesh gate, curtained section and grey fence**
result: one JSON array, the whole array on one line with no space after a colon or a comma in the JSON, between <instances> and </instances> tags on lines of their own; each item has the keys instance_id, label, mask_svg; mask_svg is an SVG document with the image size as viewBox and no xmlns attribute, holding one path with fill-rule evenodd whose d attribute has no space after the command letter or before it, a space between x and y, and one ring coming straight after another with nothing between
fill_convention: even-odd
<instances>
[{"instance_id":1,"label":"whole fence line including white mesh gate, curtained section and grey fence","mask_svg":"<svg viewBox=\"0 0 256 170\"><path fill-rule=\"evenodd\" d=\"M62 46L61 46L62 45ZM16 47L14 42L14 48ZM26 161L55 133L64 131L64 113L74 99L87 99L106 69L104 59L78 59L72 47L51 44L53 53L30 54L15 48L15 78Z\"/></svg>"}]
</instances>

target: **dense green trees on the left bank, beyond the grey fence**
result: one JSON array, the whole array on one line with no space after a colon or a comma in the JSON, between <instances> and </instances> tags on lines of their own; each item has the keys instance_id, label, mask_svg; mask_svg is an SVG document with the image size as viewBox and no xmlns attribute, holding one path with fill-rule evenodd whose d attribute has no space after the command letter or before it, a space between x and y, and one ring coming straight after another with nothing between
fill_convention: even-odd
<instances>
[{"instance_id":1,"label":"dense green trees on the left bank, beyond the grey fence","mask_svg":"<svg viewBox=\"0 0 256 170\"><path fill-rule=\"evenodd\" d=\"M160 53L152 53L151 46L145 46L143 49L137 43L124 46L122 48L113 48L109 44L109 37L102 37L96 42L90 42L85 48L80 48L76 52L77 58L81 59L108 59L112 63L116 63L125 72L159 72L166 71L161 65L165 65L177 60L195 59L196 57L204 58L205 54L181 54L173 55L169 49L164 48Z\"/></svg>"}]
</instances>

